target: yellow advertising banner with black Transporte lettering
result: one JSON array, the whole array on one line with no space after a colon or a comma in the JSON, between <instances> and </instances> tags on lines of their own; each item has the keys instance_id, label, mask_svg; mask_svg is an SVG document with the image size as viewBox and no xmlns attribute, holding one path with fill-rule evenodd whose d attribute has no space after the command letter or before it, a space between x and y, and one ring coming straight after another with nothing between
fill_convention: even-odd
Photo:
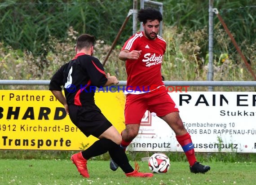
<instances>
[{"instance_id":1,"label":"yellow advertising banner with black Transporte lettering","mask_svg":"<svg viewBox=\"0 0 256 185\"><path fill-rule=\"evenodd\" d=\"M96 93L110 122L124 129L124 94ZM50 91L0 90L0 150L83 150L96 141L71 122Z\"/></svg>"}]
</instances>

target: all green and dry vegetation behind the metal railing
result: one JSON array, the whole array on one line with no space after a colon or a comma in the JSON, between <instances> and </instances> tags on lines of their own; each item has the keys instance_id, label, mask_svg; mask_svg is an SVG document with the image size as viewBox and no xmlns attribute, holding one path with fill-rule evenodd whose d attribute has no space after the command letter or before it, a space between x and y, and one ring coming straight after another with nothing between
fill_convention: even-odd
<instances>
[{"instance_id":1,"label":"all green and dry vegetation behind the metal railing","mask_svg":"<svg viewBox=\"0 0 256 185\"><path fill-rule=\"evenodd\" d=\"M163 2L163 37L167 51L165 80L206 80L208 63L208 1ZM1 79L49 80L59 66L74 56L75 39L81 33L97 38L95 56L103 61L122 26L132 0L5 0L0 2ZM145 7L149 6L145 4ZM138 1L138 7L140 7ZM252 69L256 71L256 2L214 0ZM139 24L139 23L138 23ZM139 25L138 25L139 29ZM132 35L132 18L106 62L106 70L126 80L118 53ZM214 16L214 80L254 80L230 38ZM2 86L2 89L14 87ZM28 88L28 87L15 87ZM45 87L29 87L44 89ZM191 87L190 91L207 90ZM219 91L255 91L248 87L216 87Z\"/></svg>"}]
</instances>

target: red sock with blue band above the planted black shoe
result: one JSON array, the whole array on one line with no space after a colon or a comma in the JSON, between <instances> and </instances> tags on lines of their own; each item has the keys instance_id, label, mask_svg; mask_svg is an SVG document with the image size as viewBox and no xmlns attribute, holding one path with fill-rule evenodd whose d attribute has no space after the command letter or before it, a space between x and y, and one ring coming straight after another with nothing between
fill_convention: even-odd
<instances>
[{"instance_id":1,"label":"red sock with blue band above the planted black shoe","mask_svg":"<svg viewBox=\"0 0 256 185\"><path fill-rule=\"evenodd\" d=\"M182 136L176 136L177 141L180 143L185 155L190 163L190 166L193 166L196 162L195 155L194 155L194 145L192 143L190 134L187 132Z\"/></svg>"}]
</instances>

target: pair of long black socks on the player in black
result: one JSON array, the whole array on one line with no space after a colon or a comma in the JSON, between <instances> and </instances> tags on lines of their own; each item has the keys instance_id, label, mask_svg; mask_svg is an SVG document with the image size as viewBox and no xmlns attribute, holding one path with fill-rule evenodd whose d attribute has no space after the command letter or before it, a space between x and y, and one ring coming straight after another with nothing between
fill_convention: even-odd
<instances>
[{"instance_id":1,"label":"pair of long black socks on the player in black","mask_svg":"<svg viewBox=\"0 0 256 185\"><path fill-rule=\"evenodd\" d=\"M132 166L129 164L128 158L124 150L115 142L109 139L100 139L93 143L88 149L82 151L84 159L90 159L109 151L110 157L118 164L124 173L133 172Z\"/></svg>"}]
</instances>

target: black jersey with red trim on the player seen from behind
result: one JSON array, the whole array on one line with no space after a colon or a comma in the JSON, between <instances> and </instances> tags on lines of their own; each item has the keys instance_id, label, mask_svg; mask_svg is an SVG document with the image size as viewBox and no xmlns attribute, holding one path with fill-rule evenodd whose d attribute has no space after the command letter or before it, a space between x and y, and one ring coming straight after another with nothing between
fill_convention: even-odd
<instances>
[{"instance_id":1,"label":"black jersey with red trim on the player seen from behind","mask_svg":"<svg viewBox=\"0 0 256 185\"><path fill-rule=\"evenodd\" d=\"M68 105L85 106L95 104L95 88L106 82L102 63L96 57L78 53L53 75L49 90L62 91L63 86Z\"/></svg>"}]
</instances>

